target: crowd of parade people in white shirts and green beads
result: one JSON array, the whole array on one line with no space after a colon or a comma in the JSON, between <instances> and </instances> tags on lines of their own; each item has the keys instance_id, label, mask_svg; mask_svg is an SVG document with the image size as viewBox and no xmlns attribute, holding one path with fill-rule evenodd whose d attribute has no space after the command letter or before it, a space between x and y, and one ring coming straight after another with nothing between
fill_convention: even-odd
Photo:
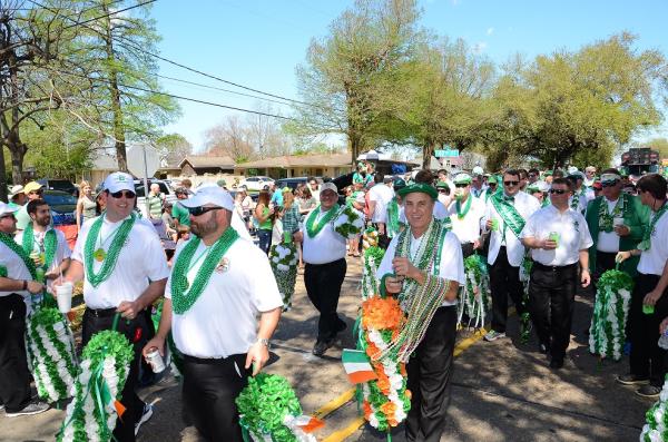
<instances>
[{"instance_id":1,"label":"crowd of parade people in white shirts and green beads","mask_svg":"<svg viewBox=\"0 0 668 442\"><path fill-rule=\"evenodd\" d=\"M529 314L552 370L567 360L576 294L621 265L636 285L630 370L617 380L639 385L646 397L660 393L667 366L657 341L668 328L668 205L660 175L636 180L593 167L484 174L477 166L385 176L360 163L345 188L310 178L295 189L263 189L256 203L244 188L233 198L225 183L196 190L181 185L171 204L151 186L141 217L131 176L110 174L97 195L82 183L71 253L50 226L40 185L29 183L0 203L0 403L7 416L48 409L30 395L23 334L33 303L51 291L47 286L84 282L82 344L120 313L119 332L135 353L115 438L135 440L151 416L136 394L137 372L149 351L165 354L171 334L184 357L190 423L205 439L240 441L234 400L268 361L285 307L266 257L273 245L297 245L306 294L320 314L313 354L324 355L346 328L337 313L341 287L347 261L364 251L360 235L335 229L340 203L362 214L386 249L376 273L381 289L411 305L401 350L413 392L407 440L438 441L443 431L458 293L472 255L489 268L492 315L484 340L505 337L510 298L518 315ZM167 226L173 255L165 254L153 220ZM527 262L528 297L521 281ZM150 306L160 298L155 331Z\"/></svg>"}]
</instances>

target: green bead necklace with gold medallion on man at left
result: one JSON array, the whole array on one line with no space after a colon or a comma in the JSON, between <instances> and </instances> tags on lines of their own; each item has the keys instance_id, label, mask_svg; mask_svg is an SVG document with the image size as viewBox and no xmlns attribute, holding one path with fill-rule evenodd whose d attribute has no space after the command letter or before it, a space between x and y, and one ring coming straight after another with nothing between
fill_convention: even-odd
<instances>
[{"instance_id":1,"label":"green bead necklace with gold medallion on man at left","mask_svg":"<svg viewBox=\"0 0 668 442\"><path fill-rule=\"evenodd\" d=\"M116 262L118 261L118 255L120 255L120 249L125 245L137 216L132 213L129 218L121 223L120 227L115 230L114 239L111 239L111 244L109 244L109 249L105 253L102 259L99 259L99 253L95 247L102 228L104 218L105 216L102 215L92 223L90 230L88 230L88 235L86 236L86 244L84 245L86 278L94 287L97 287L107 281L111 275L111 272L114 272L114 268L116 268ZM96 259L102 261L102 266L98 274L95 273L92 265Z\"/></svg>"}]
</instances>

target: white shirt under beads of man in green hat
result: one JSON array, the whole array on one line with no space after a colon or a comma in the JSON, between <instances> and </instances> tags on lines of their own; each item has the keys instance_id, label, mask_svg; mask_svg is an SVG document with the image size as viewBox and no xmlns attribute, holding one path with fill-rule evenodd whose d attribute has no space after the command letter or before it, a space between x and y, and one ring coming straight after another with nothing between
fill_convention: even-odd
<instances>
[{"instance_id":1,"label":"white shirt under beads of man in green hat","mask_svg":"<svg viewBox=\"0 0 668 442\"><path fill-rule=\"evenodd\" d=\"M412 235L412 234L409 233L407 235ZM420 244L422 244L423 239L424 239L424 235L422 235L419 238L413 237L413 239L411 240L411 249L410 249L411 261L413 261L412 258L418 253L418 249L420 248ZM379 269L376 271L376 276L379 278L382 278L384 275L394 272L394 269L392 268L392 259L394 259L394 254L396 251L397 243L399 243L399 235L395 236L394 238L392 238L392 240L390 242L390 245L387 246L387 251L385 252L385 255L383 256L383 261L381 262L381 265L379 266ZM432 268L430 268L430 273L431 274L434 273L433 264L432 264ZM441 277L443 279L449 279L449 281L456 281L460 285L463 285L465 283L464 259L463 259L463 255L462 255L462 247L460 245L459 239L452 232L448 232L445 234L445 237L443 238L443 243L441 244L441 265L439 268L439 277ZM449 305L455 305L455 304L456 304L456 299L452 301L452 302L444 301L442 305L449 306Z\"/></svg>"}]
</instances>

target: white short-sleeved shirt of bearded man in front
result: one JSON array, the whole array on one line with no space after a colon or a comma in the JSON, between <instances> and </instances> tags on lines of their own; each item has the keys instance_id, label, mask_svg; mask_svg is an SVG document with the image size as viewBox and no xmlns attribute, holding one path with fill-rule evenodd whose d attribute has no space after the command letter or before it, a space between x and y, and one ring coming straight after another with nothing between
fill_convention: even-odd
<instances>
[{"instance_id":1,"label":"white short-sleeved shirt of bearded man in front","mask_svg":"<svg viewBox=\"0 0 668 442\"><path fill-rule=\"evenodd\" d=\"M185 244L177 247L175 259ZM194 256L205 248L200 242ZM218 358L246 353L257 340L257 315L283 306L267 255L252 242L237 239L225 258L227 271L215 271L195 304L183 315L171 315L174 343L186 355ZM190 284L203 263L188 272ZM171 298L171 276L165 297Z\"/></svg>"}]
</instances>

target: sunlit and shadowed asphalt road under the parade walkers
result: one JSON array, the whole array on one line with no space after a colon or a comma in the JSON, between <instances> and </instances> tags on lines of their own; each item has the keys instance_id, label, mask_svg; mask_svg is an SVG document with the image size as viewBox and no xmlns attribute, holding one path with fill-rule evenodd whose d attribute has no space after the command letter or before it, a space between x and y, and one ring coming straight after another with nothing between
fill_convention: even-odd
<instances>
[{"instance_id":1,"label":"sunlit and shadowed asphalt road under the parade walkers","mask_svg":"<svg viewBox=\"0 0 668 442\"><path fill-rule=\"evenodd\" d=\"M324 416L318 440L384 441L362 424L351 385L341 364L341 348L353 347L352 325L360 299L360 263L348 259L340 312L348 328L325 357L315 357L316 311L297 277L294 308L284 314L274 336L269 373L286 376L305 413ZM637 441L645 412L652 401L615 383L628 360L599 361L587 351L583 331L591 316L591 298L578 297L573 334L562 370L552 371L537 350L536 341L521 344L518 321L509 321L511 337L493 343L471 331L459 334L452 400L442 441ZM173 377L145 389L141 395L155 405L154 418L143 425L138 441L198 441L181 421L180 390ZM52 441L63 411L7 419L0 413L0 441ZM395 429L393 441L404 441Z\"/></svg>"}]
</instances>

